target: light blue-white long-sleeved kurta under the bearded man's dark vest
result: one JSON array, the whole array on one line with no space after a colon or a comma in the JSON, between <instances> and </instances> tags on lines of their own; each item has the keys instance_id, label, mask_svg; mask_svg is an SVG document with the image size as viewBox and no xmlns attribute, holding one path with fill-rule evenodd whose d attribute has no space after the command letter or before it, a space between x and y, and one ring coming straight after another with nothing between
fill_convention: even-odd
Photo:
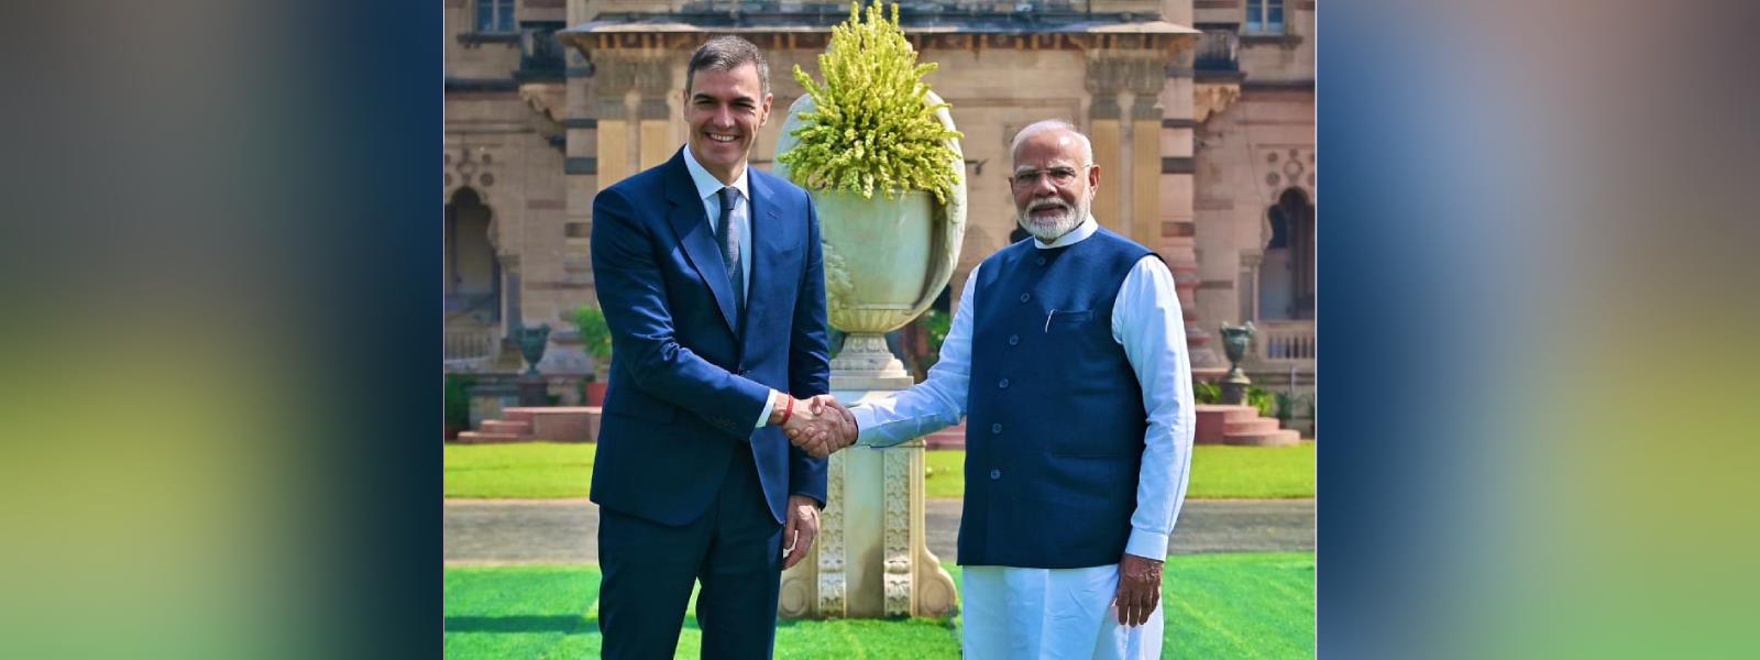
<instances>
[{"instance_id":1,"label":"light blue-white long-sleeved kurta under the bearded man's dark vest","mask_svg":"<svg viewBox=\"0 0 1760 660\"><path fill-rule=\"evenodd\" d=\"M1095 234L1089 216L1054 243L1060 248ZM982 266L980 266L982 268ZM966 385L972 377L972 290L977 269L966 278L942 357L929 378L880 401L852 408L861 424L859 444L889 447L957 424L966 415ZM1167 539L1179 517L1192 468L1192 431L1197 421L1192 401L1192 366L1186 357L1184 317L1167 266L1149 255L1137 262L1119 285L1112 306L1112 338L1142 387L1142 468L1137 475L1137 509L1130 517L1125 551L1167 558ZM1058 401L1045 401L1058 405ZM1075 414L1075 412L1072 412ZM1047 521L1054 523L1054 521ZM1121 628L1112 612L1118 565L1089 568L966 567L964 656L968 658L1158 658L1162 614L1139 628Z\"/></svg>"}]
</instances>

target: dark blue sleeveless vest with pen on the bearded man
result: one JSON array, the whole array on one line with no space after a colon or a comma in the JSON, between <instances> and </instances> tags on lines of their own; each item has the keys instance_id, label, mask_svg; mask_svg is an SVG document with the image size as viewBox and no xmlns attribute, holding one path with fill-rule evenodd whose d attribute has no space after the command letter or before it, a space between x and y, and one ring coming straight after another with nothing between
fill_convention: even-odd
<instances>
[{"instance_id":1,"label":"dark blue sleeveless vest with pen on the bearded man","mask_svg":"<svg viewBox=\"0 0 1760 660\"><path fill-rule=\"evenodd\" d=\"M1031 239L979 268L959 563L1118 563L1137 509L1148 412L1112 340L1112 303L1151 252L1111 231Z\"/></svg>"}]
</instances>

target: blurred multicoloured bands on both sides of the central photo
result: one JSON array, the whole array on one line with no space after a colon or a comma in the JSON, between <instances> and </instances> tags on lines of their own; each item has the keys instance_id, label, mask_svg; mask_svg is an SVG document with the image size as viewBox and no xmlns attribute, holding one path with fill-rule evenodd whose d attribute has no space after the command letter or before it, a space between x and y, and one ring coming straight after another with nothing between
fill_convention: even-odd
<instances>
[{"instance_id":1,"label":"blurred multicoloured bands on both sides of the central photo","mask_svg":"<svg viewBox=\"0 0 1760 660\"><path fill-rule=\"evenodd\" d=\"M433 655L445 11L5 9L5 655ZM1755 7L1313 16L1320 656L1751 656Z\"/></svg>"}]
</instances>

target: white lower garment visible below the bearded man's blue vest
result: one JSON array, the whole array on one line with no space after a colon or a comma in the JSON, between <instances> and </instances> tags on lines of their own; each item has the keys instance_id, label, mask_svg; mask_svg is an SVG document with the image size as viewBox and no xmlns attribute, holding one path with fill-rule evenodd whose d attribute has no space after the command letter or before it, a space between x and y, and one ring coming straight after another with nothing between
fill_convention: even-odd
<instances>
[{"instance_id":1,"label":"white lower garment visible below the bearded man's blue vest","mask_svg":"<svg viewBox=\"0 0 1760 660\"><path fill-rule=\"evenodd\" d=\"M1118 565L1093 568L964 567L968 660L1160 658L1162 605L1149 623L1118 625Z\"/></svg>"}]
</instances>

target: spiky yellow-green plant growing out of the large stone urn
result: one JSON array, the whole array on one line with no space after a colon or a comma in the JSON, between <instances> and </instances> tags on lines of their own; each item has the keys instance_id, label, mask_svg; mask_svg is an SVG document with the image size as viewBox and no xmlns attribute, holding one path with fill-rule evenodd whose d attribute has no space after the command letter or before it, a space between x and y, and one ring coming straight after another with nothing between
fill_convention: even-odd
<instances>
[{"instance_id":1,"label":"spiky yellow-green plant growing out of the large stone urn","mask_svg":"<svg viewBox=\"0 0 1760 660\"><path fill-rule=\"evenodd\" d=\"M922 76L936 63L917 63L917 51L898 25L898 4L887 19L882 2L850 4L850 19L831 30L831 44L818 56L824 84L794 67L794 79L813 97L803 113L799 143L780 155L788 178L810 190L841 190L887 199L910 190L928 190L947 202L961 171L950 167L952 141L963 137L935 116L949 104L929 104Z\"/></svg>"}]
</instances>

